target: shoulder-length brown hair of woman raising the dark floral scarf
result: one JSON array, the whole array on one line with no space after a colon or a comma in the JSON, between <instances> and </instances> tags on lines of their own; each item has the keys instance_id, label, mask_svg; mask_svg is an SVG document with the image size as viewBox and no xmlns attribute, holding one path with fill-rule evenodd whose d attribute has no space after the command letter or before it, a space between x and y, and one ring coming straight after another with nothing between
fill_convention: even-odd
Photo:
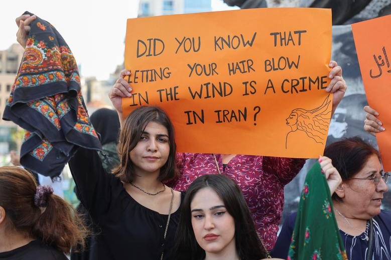
<instances>
[{"instance_id":1,"label":"shoulder-length brown hair of woman raising the dark floral scarf","mask_svg":"<svg viewBox=\"0 0 391 260\"><path fill-rule=\"evenodd\" d=\"M113 168L112 172L117 175L121 181L132 182L134 179L134 163L129 153L136 147L147 125L150 122L156 122L167 128L170 154L167 162L160 169L159 180L167 181L176 174L175 163L175 132L174 126L167 114L156 106L141 106L130 113L122 125L119 134L119 143L117 146L120 164Z\"/></svg>"}]
</instances>

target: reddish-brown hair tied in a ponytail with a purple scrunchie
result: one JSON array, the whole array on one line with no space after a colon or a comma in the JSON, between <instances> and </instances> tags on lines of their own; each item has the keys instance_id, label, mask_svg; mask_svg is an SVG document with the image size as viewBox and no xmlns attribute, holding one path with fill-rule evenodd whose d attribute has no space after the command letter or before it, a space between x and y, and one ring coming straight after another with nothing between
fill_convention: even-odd
<instances>
[{"instance_id":1,"label":"reddish-brown hair tied in a ponytail with a purple scrunchie","mask_svg":"<svg viewBox=\"0 0 391 260\"><path fill-rule=\"evenodd\" d=\"M25 169L0 167L0 206L10 227L69 253L77 244L84 247L88 229L72 206L53 194L49 186L38 186Z\"/></svg>"}]
</instances>

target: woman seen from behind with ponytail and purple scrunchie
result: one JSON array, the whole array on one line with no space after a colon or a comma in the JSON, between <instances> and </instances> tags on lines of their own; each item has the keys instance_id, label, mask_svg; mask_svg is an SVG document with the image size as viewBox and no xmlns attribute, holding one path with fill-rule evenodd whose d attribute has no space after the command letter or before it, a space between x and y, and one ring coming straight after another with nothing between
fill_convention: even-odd
<instances>
[{"instance_id":1,"label":"woman seen from behind with ponytail and purple scrunchie","mask_svg":"<svg viewBox=\"0 0 391 260\"><path fill-rule=\"evenodd\" d=\"M67 260L87 229L71 205L21 167L0 167L0 259Z\"/></svg>"}]
</instances>

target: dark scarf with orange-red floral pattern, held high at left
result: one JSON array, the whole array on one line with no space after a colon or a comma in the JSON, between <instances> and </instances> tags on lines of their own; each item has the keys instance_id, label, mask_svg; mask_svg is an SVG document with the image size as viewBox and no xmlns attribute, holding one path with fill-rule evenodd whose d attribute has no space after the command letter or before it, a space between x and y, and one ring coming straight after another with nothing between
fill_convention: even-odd
<instances>
[{"instance_id":1,"label":"dark scarf with orange-red floral pattern, held high at left","mask_svg":"<svg viewBox=\"0 0 391 260\"><path fill-rule=\"evenodd\" d=\"M30 26L3 119L26 130L21 165L55 177L77 147L101 150L101 144L89 121L68 45L50 23L37 17Z\"/></svg>"}]
</instances>

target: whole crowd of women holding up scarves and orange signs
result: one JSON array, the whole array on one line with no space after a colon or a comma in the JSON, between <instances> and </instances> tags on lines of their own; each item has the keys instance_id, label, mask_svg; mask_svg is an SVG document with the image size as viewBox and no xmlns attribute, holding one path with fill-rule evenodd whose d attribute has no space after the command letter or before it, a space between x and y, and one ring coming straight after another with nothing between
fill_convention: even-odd
<instances>
[{"instance_id":1,"label":"whole crowd of women holding up scarves and orange signs","mask_svg":"<svg viewBox=\"0 0 391 260\"><path fill-rule=\"evenodd\" d=\"M35 20L16 19L25 48ZM342 68L335 61L328 66L325 92L333 93L333 113L347 86ZM178 153L173 123L160 107L141 106L123 117L130 74L123 70L110 89L114 110L90 117L103 149L78 147L69 161L76 210L27 170L0 167L0 258L289 257L296 213L278 235L284 186L306 159ZM384 131L378 113L364 109L364 129ZM391 213L381 209L389 175L378 151L359 137L347 138L328 145L319 165L348 259L391 260Z\"/></svg>"}]
</instances>

